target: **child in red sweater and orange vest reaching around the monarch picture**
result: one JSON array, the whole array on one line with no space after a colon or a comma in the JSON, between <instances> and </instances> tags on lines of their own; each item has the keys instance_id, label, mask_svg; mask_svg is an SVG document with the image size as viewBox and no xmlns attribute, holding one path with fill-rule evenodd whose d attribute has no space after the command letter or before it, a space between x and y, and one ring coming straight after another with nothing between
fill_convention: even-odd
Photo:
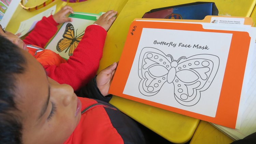
<instances>
[{"instance_id":1,"label":"child in red sweater and orange vest reaching around the monarch picture","mask_svg":"<svg viewBox=\"0 0 256 144\"><path fill-rule=\"evenodd\" d=\"M60 84L71 85L76 91L95 76L102 57L106 31L114 22L117 12L108 11L101 15L93 25L88 26L73 56L65 60L43 47L57 32L57 25L72 21L71 18L66 17L68 13L73 13L72 8L64 6L56 14L47 18L43 17L23 41L17 35L4 30L0 30L0 35L28 51L42 64L49 77Z\"/></svg>"}]
</instances>

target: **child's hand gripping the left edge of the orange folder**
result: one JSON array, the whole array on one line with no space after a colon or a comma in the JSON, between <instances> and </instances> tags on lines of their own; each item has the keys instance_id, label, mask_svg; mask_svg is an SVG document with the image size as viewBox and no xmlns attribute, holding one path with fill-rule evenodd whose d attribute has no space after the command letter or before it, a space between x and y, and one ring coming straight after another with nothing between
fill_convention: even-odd
<instances>
[{"instance_id":1,"label":"child's hand gripping the left edge of the orange folder","mask_svg":"<svg viewBox=\"0 0 256 144\"><path fill-rule=\"evenodd\" d=\"M116 71L117 63L114 62L112 65L108 66L96 76L97 86L103 96L109 95L109 87L113 80L113 76Z\"/></svg>"}]
</instances>

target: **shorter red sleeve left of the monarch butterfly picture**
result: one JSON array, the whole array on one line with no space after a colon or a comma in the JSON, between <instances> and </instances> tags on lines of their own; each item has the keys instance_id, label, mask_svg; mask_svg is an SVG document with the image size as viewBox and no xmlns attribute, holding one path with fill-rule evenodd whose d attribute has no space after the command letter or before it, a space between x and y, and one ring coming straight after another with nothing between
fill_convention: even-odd
<instances>
[{"instance_id":1,"label":"shorter red sleeve left of the monarch butterfly picture","mask_svg":"<svg viewBox=\"0 0 256 144\"><path fill-rule=\"evenodd\" d=\"M25 44L37 45L44 47L45 44L53 37L57 31L58 23L53 19L53 15L49 17L43 17L38 21L35 28L28 34L23 40Z\"/></svg>"}]
</instances>

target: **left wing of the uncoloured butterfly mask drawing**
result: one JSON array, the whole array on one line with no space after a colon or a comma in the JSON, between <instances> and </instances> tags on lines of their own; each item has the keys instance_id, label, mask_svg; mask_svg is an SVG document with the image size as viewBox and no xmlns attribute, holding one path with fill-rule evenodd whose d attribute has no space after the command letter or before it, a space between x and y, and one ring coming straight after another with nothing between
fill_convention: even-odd
<instances>
[{"instance_id":1,"label":"left wing of the uncoloured butterfly mask drawing","mask_svg":"<svg viewBox=\"0 0 256 144\"><path fill-rule=\"evenodd\" d=\"M160 50L144 47L139 58L140 92L145 96L153 96L167 81L170 61Z\"/></svg>"}]
</instances>

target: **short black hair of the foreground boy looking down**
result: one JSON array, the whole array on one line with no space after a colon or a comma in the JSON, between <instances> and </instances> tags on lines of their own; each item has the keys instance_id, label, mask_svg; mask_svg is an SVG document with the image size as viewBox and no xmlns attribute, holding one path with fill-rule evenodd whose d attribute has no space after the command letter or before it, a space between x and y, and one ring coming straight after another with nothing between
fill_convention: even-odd
<instances>
[{"instance_id":1,"label":"short black hair of the foreground boy looking down","mask_svg":"<svg viewBox=\"0 0 256 144\"><path fill-rule=\"evenodd\" d=\"M25 72L26 59L18 48L0 35L0 143L22 143L20 112L15 103L15 82Z\"/></svg>"}]
</instances>

